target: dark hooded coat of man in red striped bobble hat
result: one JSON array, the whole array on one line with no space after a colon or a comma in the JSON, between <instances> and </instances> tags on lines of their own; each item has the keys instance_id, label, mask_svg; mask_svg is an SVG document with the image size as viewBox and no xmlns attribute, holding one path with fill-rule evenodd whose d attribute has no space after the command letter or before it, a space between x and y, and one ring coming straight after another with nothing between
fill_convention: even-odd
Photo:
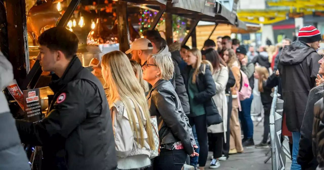
<instances>
[{"instance_id":1,"label":"dark hooded coat of man in red striped bobble hat","mask_svg":"<svg viewBox=\"0 0 324 170\"><path fill-rule=\"evenodd\" d=\"M279 57L287 128L299 132L306 110L309 90L315 86L318 60L322 57L302 41L286 45Z\"/></svg>"}]
</instances>

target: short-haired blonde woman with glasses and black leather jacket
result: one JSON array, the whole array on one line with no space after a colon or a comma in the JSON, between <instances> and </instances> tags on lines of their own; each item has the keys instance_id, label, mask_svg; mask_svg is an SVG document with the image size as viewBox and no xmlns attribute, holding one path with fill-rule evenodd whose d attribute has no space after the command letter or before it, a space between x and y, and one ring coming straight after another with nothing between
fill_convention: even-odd
<instances>
[{"instance_id":1,"label":"short-haired blonde woman with glasses and black leather jacket","mask_svg":"<svg viewBox=\"0 0 324 170\"><path fill-rule=\"evenodd\" d=\"M147 95L149 110L159 126L160 155L154 158L153 169L180 170L187 155L195 156L189 127L171 82L173 61L170 56L151 54L142 66L143 79L152 85Z\"/></svg>"}]
</instances>

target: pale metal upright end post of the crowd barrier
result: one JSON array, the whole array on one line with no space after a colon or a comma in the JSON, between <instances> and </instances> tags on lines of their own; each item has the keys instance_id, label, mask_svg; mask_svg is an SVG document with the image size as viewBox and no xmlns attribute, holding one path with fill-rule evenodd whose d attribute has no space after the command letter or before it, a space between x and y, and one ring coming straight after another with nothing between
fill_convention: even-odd
<instances>
[{"instance_id":1,"label":"pale metal upright end post of the crowd barrier","mask_svg":"<svg viewBox=\"0 0 324 170\"><path fill-rule=\"evenodd\" d=\"M277 91L278 91L278 87L274 87L273 99L272 99L271 110L270 110L270 123L269 123L272 170L277 170L277 148L276 148L276 138L275 138L276 131L274 128L274 115L276 111Z\"/></svg>"}]
</instances>

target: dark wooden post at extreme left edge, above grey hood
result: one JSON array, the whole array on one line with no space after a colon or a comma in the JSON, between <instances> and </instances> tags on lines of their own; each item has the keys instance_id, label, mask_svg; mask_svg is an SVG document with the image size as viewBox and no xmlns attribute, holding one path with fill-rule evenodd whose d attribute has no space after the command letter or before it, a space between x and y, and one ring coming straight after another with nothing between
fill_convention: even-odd
<instances>
[{"instance_id":1,"label":"dark wooden post at extreme left edge, above grey hood","mask_svg":"<svg viewBox=\"0 0 324 170\"><path fill-rule=\"evenodd\" d=\"M8 32L7 32L7 15L4 1L0 0L0 50L8 58L9 46L8 46Z\"/></svg>"}]
</instances>

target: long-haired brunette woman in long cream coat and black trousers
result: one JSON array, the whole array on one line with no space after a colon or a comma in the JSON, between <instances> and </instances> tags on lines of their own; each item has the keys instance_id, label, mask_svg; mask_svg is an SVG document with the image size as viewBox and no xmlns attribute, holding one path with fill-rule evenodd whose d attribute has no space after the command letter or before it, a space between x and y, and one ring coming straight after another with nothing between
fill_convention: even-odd
<instances>
[{"instance_id":1,"label":"long-haired brunette woman in long cream coat and black trousers","mask_svg":"<svg viewBox=\"0 0 324 170\"><path fill-rule=\"evenodd\" d=\"M227 157L223 155L223 141L226 143L226 132L227 132L227 97L225 94L226 85L228 81L228 69L227 64L224 60L219 56L217 51L214 49L205 50L205 54L203 55L203 59L208 60L212 63L213 66L213 79L216 85L216 95L213 96L214 103L218 109L219 115L223 118L223 122L217 125L211 125L207 128L207 132L209 133L209 145L212 146L213 149L213 159L210 165L210 168L218 168L220 163L218 159L226 160Z\"/></svg>"}]
</instances>

